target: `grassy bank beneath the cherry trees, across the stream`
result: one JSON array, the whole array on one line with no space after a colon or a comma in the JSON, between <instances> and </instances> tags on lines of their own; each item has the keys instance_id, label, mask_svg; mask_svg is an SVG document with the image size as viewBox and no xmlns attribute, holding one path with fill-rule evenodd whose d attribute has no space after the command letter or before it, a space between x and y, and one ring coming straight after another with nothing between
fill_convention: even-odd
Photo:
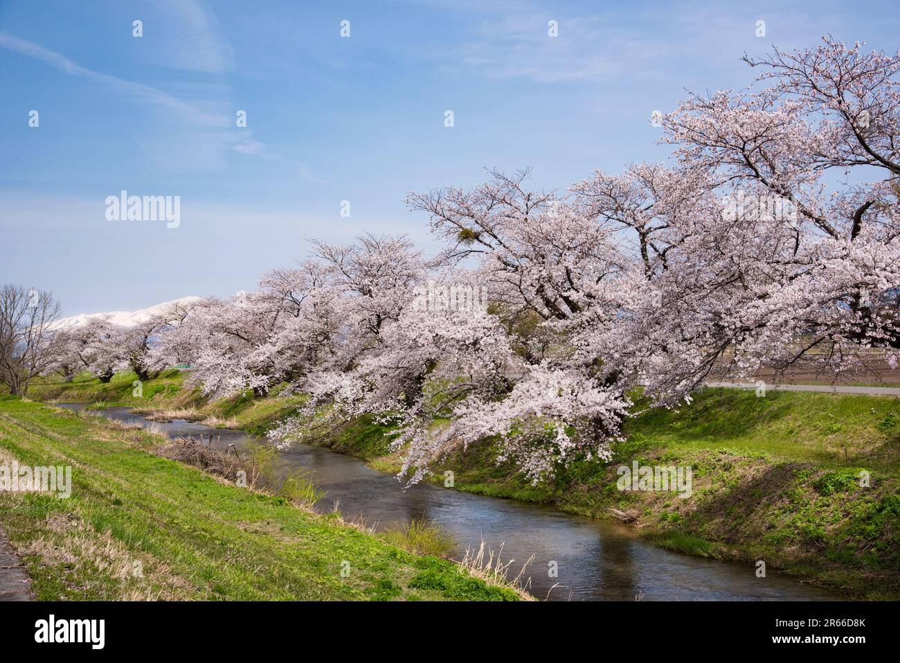
<instances>
[{"instance_id":1,"label":"grassy bank beneath the cherry trees, across the stream","mask_svg":"<svg viewBox=\"0 0 900 663\"><path fill-rule=\"evenodd\" d=\"M144 385L149 408L184 407L193 417L264 430L297 401L242 397L204 403L169 372ZM39 386L35 395L135 404L130 377ZM396 471L385 430L356 422L327 441L374 468ZM441 464L455 488L554 504L564 511L633 522L656 542L690 554L754 564L829 586L845 595L900 597L900 400L894 397L707 389L679 412L644 413L626 424L627 441L608 466L575 463L554 481L530 486L496 466L490 440ZM617 490L620 465L693 468L689 498ZM860 471L870 486L860 485Z\"/></svg>"}]
</instances>

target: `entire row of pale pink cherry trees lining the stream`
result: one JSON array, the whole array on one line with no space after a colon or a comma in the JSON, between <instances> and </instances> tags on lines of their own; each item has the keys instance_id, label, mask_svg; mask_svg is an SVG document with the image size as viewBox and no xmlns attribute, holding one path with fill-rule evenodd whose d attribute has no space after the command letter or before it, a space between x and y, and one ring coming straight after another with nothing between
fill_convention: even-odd
<instances>
[{"instance_id":1,"label":"entire row of pale pink cherry trees lining the stream","mask_svg":"<svg viewBox=\"0 0 900 663\"><path fill-rule=\"evenodd\" d=\"M187 362L216 397L287 383L307 408L279 440L371 414L412 480L490 437L535 481L608 459L637 386L674 406L712 376L896 366L900 56L825 38L746 60L754 86L662 117L670 165L563 195L527 171L410 194L437 256L319 243L253 293L72 331L72 363L106 379Z\"/></svg>"}]
</instances>

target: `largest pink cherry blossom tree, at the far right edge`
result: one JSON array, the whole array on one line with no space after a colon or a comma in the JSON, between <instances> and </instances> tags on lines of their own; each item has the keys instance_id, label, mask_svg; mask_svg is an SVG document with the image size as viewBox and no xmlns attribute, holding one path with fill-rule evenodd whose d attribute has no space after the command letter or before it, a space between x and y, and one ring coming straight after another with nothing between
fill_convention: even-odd
<instances>
[{"instance_id":1,"label":"largest pink cherry blossom tree, at the far right edge","mask_svg":"<svg viewBox=\"0 0 900 663\"><path fill-rule=\"evenodd\" d=\"M662 118L673 168L575 187L636 238L649 297L614 351L659 404L710 376L896 365L900 58L826 37L746 61L768 86Z\"/></svg>"}]
</instances>

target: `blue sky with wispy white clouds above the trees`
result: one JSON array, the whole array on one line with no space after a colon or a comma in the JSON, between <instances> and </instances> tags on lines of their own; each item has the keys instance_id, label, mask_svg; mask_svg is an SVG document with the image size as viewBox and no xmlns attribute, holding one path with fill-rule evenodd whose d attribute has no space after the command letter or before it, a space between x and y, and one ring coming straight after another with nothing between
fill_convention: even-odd
<instances>
[{"instance_id":1,"label":"blue sky with wispy white clouds above the trees","mask_svg":"<svg viewBox=\"0 0 900 663\"><path fill-rule=\"evenodd\" d=\"M650 114L748 85L744 51L831 32L896 52L896 4L861 6L0 0L0 282L130 310L251 289L311 237L428 247L408 192L665 159ZM179 195L179 227L107 221L122 189Z\"/></svg>"}]
</instances>

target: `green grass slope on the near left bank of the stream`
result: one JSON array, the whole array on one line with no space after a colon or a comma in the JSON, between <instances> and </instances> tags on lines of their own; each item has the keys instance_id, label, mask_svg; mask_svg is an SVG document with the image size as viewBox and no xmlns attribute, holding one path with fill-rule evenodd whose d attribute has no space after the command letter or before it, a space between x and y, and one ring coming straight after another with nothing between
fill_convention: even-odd
<instances>
[{"instance_id":1,"label":"green grass slope on the near left bank of the stream","mask_svg":"<svg viewBox=\"0 0 900 663\"><path fill-rule=\"evenodd\" d=\"M0 493L0 519L39 599L516 598L337 515L150 454L159 442L99 417L0 396L4 462L72 467L68 499Z\"/></svg>"}]
</instances>

